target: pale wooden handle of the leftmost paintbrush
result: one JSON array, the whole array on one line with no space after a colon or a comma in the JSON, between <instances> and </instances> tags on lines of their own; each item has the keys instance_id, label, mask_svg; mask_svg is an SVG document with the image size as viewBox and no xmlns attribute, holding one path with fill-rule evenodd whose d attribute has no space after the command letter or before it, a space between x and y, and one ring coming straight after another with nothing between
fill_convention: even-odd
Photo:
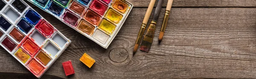
<instances>
[{"instance_id":1,"label":"pale wooden handle of the leftmost paintbrush","mask_svg":"<svg viewBox=\"0 0 256 79\"><path fill-rule=\"evenodd\" d=\"M148 19L151 15L152 9L154 8L154 3L156 3L156 0L151 0L148 6L148 9L146 11L143 23L147 24L148 23Z\"/></svg>"}]
</instances>

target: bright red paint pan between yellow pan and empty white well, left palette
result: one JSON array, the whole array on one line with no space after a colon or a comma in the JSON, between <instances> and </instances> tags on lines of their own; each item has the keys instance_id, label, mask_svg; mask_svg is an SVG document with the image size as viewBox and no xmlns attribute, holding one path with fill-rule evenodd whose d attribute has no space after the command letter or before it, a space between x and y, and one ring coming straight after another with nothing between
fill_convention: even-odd
<instances>
[{"instance_id":1,"label":"bright red paint pan between yellow pan and empty white well, left palette","mask_svg":"<svg viewBox=\"0 0 256 79\"><path fill-rule=\"evenodd\" d=\"M35 42L26 39L26 41L23 42L22 46L26 51L29 52L31 56L34 56L34 54L38 51L39 47L35 44Z\"/></svg>"}]
</instances>

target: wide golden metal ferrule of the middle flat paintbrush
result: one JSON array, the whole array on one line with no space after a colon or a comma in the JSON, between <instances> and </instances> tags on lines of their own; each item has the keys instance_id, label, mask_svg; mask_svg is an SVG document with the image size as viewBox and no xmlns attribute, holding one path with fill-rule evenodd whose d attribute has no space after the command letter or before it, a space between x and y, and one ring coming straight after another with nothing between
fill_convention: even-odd
<instances>
[{"instance_id":1,"label":"wide golden metal ferrule of the middle flat paintbrush","mask_svg":"<svg viewBox=\"0 0 256 79\"><path fill-rule=\"evenodd\" d=\"M152 20L145 34L144 41L153 42L157 21Z\"/></svg>"}]
</instances>

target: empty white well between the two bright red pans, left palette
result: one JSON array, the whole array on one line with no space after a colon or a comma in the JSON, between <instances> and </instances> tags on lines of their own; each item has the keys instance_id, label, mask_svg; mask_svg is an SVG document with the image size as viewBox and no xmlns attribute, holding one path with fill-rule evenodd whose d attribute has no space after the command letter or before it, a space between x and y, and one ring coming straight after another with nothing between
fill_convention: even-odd
<instances>
[{"instance_id":1,"label":"empty white well between the two bright red pans, left palette","mask_svg":"<svg viewBox=\"0 0 256 79\"><path fill-rule=\"evenodd\" d=\"M45 40L45 37L42 36L38 31L35 31L31 37L35 40L35 42L38 43L38 45L41 45Z\"/></svg>"}]
</instances>

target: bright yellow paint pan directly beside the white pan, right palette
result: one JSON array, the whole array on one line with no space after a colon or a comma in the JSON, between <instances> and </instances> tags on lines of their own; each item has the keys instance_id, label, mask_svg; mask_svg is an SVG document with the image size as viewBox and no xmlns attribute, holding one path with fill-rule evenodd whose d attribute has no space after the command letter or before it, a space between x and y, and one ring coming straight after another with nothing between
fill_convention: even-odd
<instances>
[{"instance_id":1,"label":"bright yellow paint pan directly beside the white pan, right palette","mask_svg":"<svg viewBox=\"0 0 256 79\"><path fill-rule=\"evenodd\" d=\"M108 20L103 19L102 22L99 24L99 28L106 31L108 34L112 34L116 26L110 23Z\"/></svg>"}]
</instances>

